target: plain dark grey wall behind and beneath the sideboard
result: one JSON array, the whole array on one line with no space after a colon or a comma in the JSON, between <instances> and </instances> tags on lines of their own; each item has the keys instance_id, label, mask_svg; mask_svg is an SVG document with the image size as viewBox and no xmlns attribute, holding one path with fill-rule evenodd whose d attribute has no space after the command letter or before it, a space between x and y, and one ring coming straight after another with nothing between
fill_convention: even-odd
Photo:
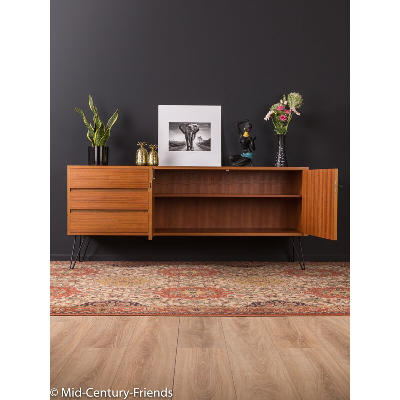
<instances>
[{"instance_id":1,"label":"plain dark grey wall behind and beneath the sideboard","mask_svg":"<svg viewBox=\"0 0 400 400\"><path fill-rule=\"evenodd\" d=\"M349 4L272 0L52 0L51 242L67 259L66 165L87 163L74 107L116 108L111 165L133 165L136 142L156 143L159 104L222 105L222 165L250 119L255 164L273 166L277 139L263 120L283 93L304 97L286 139L290 166L338 168L337 242L304 238L309 260L349 257ZM238 218L242 216L237 216ZM178 251L176 249L178 248ZM92 259L279 260L278 238L94 237ZM65 258L66 257L66 258Z\"/></svg>"}]
</instances>

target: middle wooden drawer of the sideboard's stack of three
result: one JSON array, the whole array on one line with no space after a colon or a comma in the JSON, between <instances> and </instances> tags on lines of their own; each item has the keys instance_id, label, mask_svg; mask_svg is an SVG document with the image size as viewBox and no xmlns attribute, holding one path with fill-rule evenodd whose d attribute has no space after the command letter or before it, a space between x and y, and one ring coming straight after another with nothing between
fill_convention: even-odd
<instances>
[{"instance_id":1,"label":"middle wooden drawer of the sideboard's stack of three","mask_svg":"<svg viewBox=\"0 0 400 400\"><path fill-rule=\"evenodd\" d=\"M148 209L148 191L132 189L73 189L70 209Z\"/></svg>"}]
</instances>

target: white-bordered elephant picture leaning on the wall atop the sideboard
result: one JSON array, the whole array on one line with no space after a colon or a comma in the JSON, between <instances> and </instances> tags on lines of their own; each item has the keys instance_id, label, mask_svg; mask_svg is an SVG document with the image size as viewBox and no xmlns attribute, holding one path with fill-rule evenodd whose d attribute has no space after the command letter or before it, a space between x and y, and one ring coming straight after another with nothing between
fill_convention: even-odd
<instances>
[{"instance_id":1,"label":"white-bordered elephant picture leaning on the wall atop the sideboard","mask_svg":"<svg viewBox=\"0 0 400 400\"><path fill-rule=\"evenodd\" d=\"M221 166L220 105L159 105L162 166Z\"/></svg>"}]
</instances>

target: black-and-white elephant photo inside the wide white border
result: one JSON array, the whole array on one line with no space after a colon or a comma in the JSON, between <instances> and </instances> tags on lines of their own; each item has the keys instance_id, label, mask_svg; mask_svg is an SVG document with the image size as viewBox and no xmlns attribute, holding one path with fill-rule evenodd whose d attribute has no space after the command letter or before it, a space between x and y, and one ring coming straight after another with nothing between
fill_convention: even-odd
<instances>
[{"instance_id":1,"label":"black-and-white elephant photo inside the wide white border","mask_svg":"<svg viewBox=\"0 0 400 400\"><path fill-rule=\"evenodd\" d=\"M211 151L211 124L169 122L169 151Z\"/></svg>"}]
</instances>

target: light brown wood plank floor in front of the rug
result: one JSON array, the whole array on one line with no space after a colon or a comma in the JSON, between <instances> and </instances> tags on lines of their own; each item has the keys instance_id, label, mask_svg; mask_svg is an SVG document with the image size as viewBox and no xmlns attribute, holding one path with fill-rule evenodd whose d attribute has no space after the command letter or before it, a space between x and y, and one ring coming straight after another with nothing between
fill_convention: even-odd
<instances>
[{"instance_id":1,"label":"light brown wood plank floor in front of the rug","mask_svg":"<svg viewBox=\"0 0 400 400\"><path fill-rule=\"evenodd\" d=\"M337 316L52 316L50 398L81 387L113 390L109 399L134 388L176 400L348 399L349 330Z\"/></svg>"}]
</instances>

